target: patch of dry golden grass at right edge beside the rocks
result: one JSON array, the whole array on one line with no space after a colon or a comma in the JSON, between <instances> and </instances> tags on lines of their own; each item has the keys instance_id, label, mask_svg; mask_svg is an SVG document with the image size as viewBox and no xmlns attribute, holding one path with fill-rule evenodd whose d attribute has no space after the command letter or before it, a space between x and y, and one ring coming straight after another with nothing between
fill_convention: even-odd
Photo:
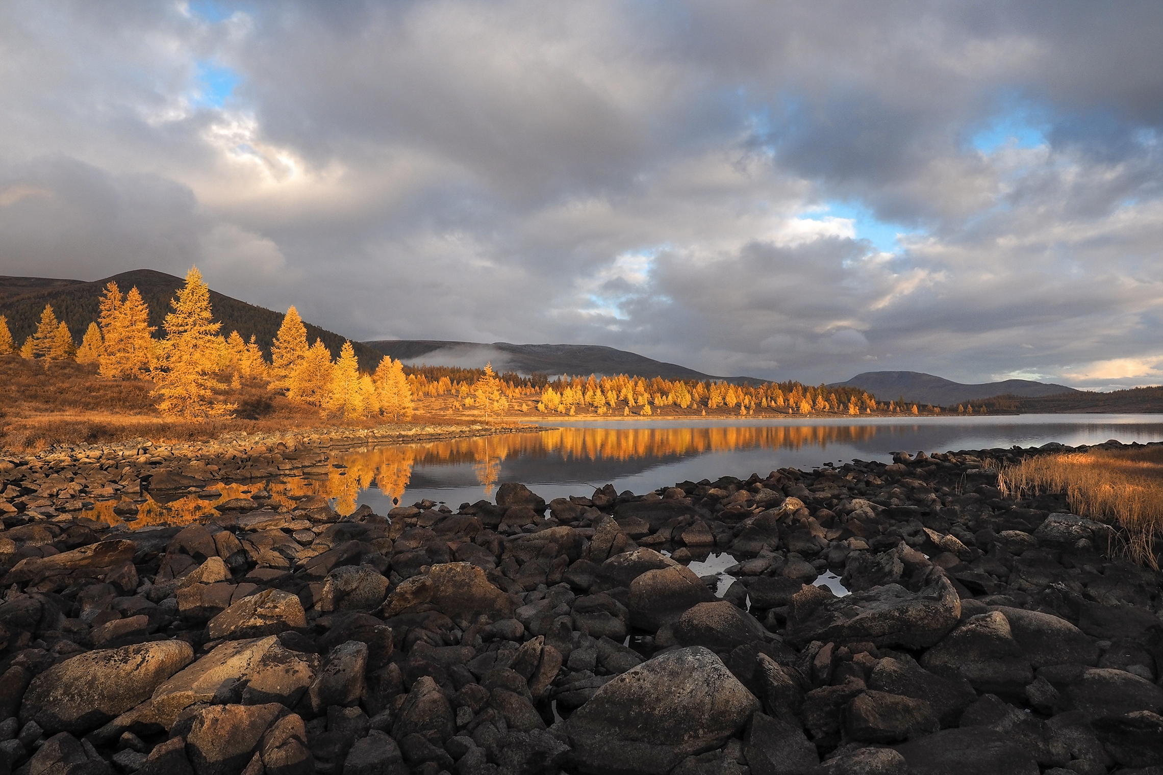
<instances>
[{"instance_id":1,"label":"patch of dry golden grass at right edge beside the rocks","mask_svg":"<svg viewBox=\"0 0 1163 775\"><path fill-rule=\"evenodd\" d=\"M1071 510L1122 529L1121 551L1158 571L1163 537L1163 447L1096 450L1027 458L998 474L1003 494L1064 493Z\"/></svg>"}]
</instances>

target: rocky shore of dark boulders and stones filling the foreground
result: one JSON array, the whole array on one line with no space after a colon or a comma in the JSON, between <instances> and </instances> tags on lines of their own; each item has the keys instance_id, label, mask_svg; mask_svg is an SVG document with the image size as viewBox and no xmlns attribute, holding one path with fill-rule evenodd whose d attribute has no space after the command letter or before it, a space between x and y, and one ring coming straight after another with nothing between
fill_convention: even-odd
<instances>
[{"instance_id":1,"label":"rocky shore of dark boulders and stones filling the foreground","mask_svg":"<svg viewBox=\"0 0 1163 775\"><path fill-rule=\"evenodd\" d=\"M0 775L1163 773L1163 575L996 487L1054 450L79 516L327 465L226 444L0 462Z\"/></svg>"}]
</instances>

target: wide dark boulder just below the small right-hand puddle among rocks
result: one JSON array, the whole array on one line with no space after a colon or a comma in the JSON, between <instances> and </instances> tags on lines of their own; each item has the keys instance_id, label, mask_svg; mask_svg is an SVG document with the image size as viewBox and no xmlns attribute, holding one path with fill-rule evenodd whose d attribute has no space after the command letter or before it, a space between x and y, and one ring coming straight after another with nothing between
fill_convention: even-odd
<instances>
[{"instance_id":1,"label":"wide dark boulder just below the small right-hand puddle among rocks","mask_svg":"<svg viewBox=\"0 0 1163 775\"><path fill-rule=\"evenodd\" d=\"M944 577L919 593L886 584L837 597L820 607L806 622L789 627L787 640L870 641L876 646L925 648L936 644L961 618L961 597Z\"/></svg>"}]
</instances>

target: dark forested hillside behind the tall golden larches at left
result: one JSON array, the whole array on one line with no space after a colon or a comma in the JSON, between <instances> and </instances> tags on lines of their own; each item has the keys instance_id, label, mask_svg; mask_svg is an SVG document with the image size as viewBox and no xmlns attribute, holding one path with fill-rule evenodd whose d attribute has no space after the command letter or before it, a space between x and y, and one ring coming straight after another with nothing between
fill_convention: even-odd
<instances>
[{"instance_id":1,"label":"dark forested hillside behind the tall golden larches at left","mask_svg":"<svg viewBox=\"0 0 1163 775\"><path fill-rule=\"evenodd\" d=\"M80 342L88 324L97 320L98 299L109 281L116 282L124 293L136 286L142 299L149 304L150 325L160 330L162 318L170 311L170 300L181 287L183 279L155 272L152 270L135 270L122 272L109 278L87 282L85 280L59 280L55 278L16 278L0 275L0 315L8 318L8 329L13 339L20 344L36 330L44 304L52 304L57 320L69 325L73 339ZM250 339L254 333L258 345L269 357L271 342L278 333L283 322L283 313L264 307L248 304L211 289L211 307L215 320L222 322L222 333L237 331L243 339ZM327 331L317 325L307 325L307 338L314 342L322 339L333 356L337 356L344 337ZM156 335L155 335L156 336ZM358 342L352 342L361 367L376 368L380 353Z\"/></svg>"}]
</instances>

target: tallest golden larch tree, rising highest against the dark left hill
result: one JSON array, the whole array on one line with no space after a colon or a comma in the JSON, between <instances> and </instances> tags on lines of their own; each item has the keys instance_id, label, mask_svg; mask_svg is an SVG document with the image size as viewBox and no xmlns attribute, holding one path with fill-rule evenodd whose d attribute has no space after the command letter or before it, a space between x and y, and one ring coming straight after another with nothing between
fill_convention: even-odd
<instances>
[{"instance_id":1,"label":"tallest golden larch tree, rising highest against the dark left hill","mask_svg":"<svg viewBox=\"0 0 1163 775\"><path fill-rule=\"evenodd\" d=\"M158 410L167 417L202 422L207 417L229 416L236 404L211 400L217 382L212 374L221 352L221 323L213 321L209 288L197 267L190 267L185 285L170 301L173 311L165 316L165 338L154 364L154 390Z\"/></svg>"}]
</instances>

